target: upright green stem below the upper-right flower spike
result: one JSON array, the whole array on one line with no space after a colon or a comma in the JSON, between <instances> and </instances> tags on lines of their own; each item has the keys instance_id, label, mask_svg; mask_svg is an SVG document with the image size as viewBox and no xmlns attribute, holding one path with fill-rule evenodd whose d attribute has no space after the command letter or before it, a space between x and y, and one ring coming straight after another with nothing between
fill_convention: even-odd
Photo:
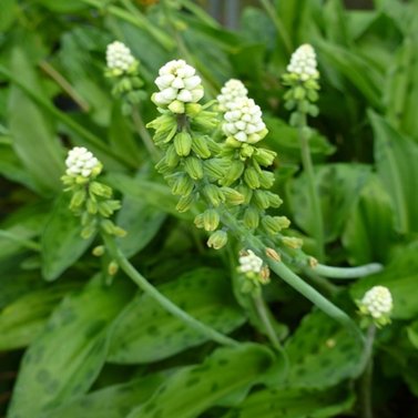
<instances>
[{"instance_id":1,"label":"upright green stem below the upper-right flower spike","mask_svg":"<svg viewBox=\"0 0 418 418\"><path fill-rule=\"evenodd\" d=\"M306 123L306 114L300 113L303 116L303 121L298 126L298 135L299 135L299 143L300 143L300 153L302 153L302 164L304 166L304 171L307 176L308 182L308 193L309 193L309 201L310 201L310 210L313 212L314 217L314 237L316 239L317 248L318 248L318 258L319 261L324 261L324 220L323 213L320 210L320 202L318 190L315 183L315 172L314 172L314 164L310 157L310 149L309 149L309 139L307 135L307 123Z\"/></svg>"}]
</instances>

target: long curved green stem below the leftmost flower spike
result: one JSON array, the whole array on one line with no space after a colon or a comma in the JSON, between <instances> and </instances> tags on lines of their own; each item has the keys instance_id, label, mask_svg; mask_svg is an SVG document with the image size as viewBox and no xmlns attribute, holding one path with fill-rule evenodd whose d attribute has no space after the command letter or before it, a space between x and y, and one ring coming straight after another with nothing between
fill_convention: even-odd
<instances>
[{"instance_id":1,"label":"long curved green stem below the leftmost flower spike","mask_svg":"<svg viewBox=\"0 0 418 418\"><path fill-rule=\"evenodd\" d=\"M201 323L186 312L173 304L169 298L161 294L150 282L142 276L135 267L129 262L123 253L118 248L116 243L112 236L103 235L103 241L112 257L116 261L121 269L149 296L156 300L165 310L182 320L184 324L193 328L195 332L204 335L218 344L226 346L235 346L238 341L218 333L210 326Z\"/></svg>"}]
</instances>

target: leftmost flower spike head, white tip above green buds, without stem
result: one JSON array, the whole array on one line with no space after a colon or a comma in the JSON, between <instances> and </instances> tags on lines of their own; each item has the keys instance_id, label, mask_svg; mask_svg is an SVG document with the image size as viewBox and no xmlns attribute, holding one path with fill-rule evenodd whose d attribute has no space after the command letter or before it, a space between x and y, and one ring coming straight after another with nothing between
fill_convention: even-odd
<instances>
[{"instance_id":1,"label":"leftmost flower spike head, white tip above green buds, without stem","mask_svg":"<svg viewBox=\"0 0 418 418\"><path fill-rule=\"evenodd\" d=\"M90 238L99 230L123 236L125 232L109 220L121 207L120 202L111 198L111 187L95 180L102 171L99 160L85 147L75 146L69 151L65 164L61 180L65 192L72 192L70 210L81 216L81 236Z\"/></svg>"}]
</instances>

